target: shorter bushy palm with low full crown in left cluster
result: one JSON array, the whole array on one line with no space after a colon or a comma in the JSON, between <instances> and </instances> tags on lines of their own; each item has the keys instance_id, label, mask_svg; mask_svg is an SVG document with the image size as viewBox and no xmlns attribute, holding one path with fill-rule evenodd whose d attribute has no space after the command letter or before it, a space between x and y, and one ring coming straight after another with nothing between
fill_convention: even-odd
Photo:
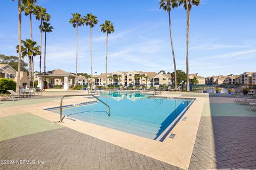
<instances>
[{"instance_id":1,"label":"shorter bushy palm with low full crown in left cluster","mask_svg":"<svg viewBox=\"0 0 256 170\"><path fill-rule=\"evenodd\" d=\"M25 56L28 56L28 65L29 65L29 87L30 87L30 81L33 81L33 79L31 79L32 77L34 77L34 75L32 75L32 57L40 55L40 47L36 46L36 41L32 41L31 39L26 39L26 41L21 40L21 43L23 44L23 46L21 45L21 57L24 58ZM17 49L17 53L19 53L19 48L20 46L18 45L16 47Z\"/></svg>"}]
</instances>

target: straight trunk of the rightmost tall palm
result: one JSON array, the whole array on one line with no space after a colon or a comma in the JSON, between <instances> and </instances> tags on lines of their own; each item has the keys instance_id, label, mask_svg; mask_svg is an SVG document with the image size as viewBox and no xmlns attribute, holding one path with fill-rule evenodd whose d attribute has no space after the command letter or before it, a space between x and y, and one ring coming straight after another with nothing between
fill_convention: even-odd
<instances>
[{"instance_id":1,"label":"straight trunk of the rightmost tall palm","mask_svg":"<svg viewBox=\"0 0 256 170\"><path fill-rule=\"evenodd\" d=\"M187 58L186 58L186 65L187 65L187 84L186 90L189 91L189 62L188 62L188 45L189 45L189 8L188 8L188 0L186 0L186 11L187 11Z\"/></svg>"}]
</instances>

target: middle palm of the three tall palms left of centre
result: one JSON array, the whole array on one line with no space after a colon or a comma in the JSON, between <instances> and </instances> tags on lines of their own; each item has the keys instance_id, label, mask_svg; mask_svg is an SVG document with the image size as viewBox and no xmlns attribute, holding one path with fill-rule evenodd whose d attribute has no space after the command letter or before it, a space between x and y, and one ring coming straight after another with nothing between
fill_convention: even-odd
<instances>
[{"instance_id":1,"label":"middle palm of the three tall palms left of centre","mask_svg":"<svg viewBox=\"0 0 256 170\"><path fill-rule=\"evenodd\" d=\"M91 74L92 74L92 28L95 24L98 23L97 16L93 14L87 14L84 16L84 22L86 26L90 25L90 49L91 49ZM92 89L92 82L91 82L91 89Z\"/></svg>"}]
</instances>

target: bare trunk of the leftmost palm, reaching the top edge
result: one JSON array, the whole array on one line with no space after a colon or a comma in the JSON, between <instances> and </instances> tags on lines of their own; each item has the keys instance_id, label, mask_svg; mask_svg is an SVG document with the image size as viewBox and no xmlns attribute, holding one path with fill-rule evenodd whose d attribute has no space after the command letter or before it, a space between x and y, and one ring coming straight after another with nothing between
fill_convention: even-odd
<instances>
[{"instance_id":1,"label":"bare trunk of the leftmost palm, reaching the top edge","mask_svg":"<svg viewBox=\"0 0 256 170\"><path fill-rule=\"evenodd\" d=\"M20 88L20 65L21 65L21 0L18 1L18 41L19 41L19 60L18 60L18 73L17 73L17 83L16 83L16 92L19 94Z\"/></svg>"}]
</instances>

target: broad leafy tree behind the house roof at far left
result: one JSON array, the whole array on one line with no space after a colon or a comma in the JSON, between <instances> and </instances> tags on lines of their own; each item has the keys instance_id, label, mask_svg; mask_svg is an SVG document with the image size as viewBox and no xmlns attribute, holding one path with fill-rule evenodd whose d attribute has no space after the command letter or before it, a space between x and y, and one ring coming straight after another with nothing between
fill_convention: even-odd
<instances>
[{"instance_id":1,"label":"broad leafy tree behind the house roof at far left","mask_svg":"<svg viewBox=\"0 0 256 170\"><path fill-rule=\"evenodd\" d=\"M0 54L0 64L9 64L14 70L19 70L19 57L17 56L5 56ZM20 61L20 71L27 72L28 64L23 60Z\"/></svg>"}]
</instances>

